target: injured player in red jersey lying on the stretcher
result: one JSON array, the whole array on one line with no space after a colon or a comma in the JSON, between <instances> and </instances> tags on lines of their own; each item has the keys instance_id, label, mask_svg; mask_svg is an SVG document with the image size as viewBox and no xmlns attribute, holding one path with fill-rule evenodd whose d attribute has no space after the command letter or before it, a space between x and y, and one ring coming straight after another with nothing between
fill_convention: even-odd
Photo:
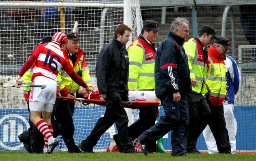
<instances>
[{"instance_id":1,"label":"injured player in red jersey lying on the stretcher","mask_svg":"<svg viewBox=\"0 0 256 161\"><path fill-rule=\"evenodd\" d=\"M99 90L95 91L97 95L92 92L87 92L84 88L79 88L76 91L77 98L86 98L92 100L104 100L100 97ZM128 95L129 101L143 101L143 102L160 102L160 100L156 97L155 91L137 91L130 90Z\"/></svg>"}]
</instances>

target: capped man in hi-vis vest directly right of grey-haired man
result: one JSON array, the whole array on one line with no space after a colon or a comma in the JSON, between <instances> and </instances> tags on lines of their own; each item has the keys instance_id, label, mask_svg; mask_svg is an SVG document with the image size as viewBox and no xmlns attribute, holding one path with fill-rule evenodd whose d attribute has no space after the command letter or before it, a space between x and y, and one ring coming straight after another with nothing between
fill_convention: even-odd
<instances>
[{"instance_id":1,"label":"capped man in hi-vis vest directly right of grey-haired man","mask_svg":"<svg viewBox=\"0 0 256 161\"><path fill-rule=\"evenodd\" d=\"M187 153L201 154L196 148L197 138L200 136L211 115L210 108L202 95L207 93L205 77L207 71L208 54L205 47L217 38L216 31L210 25L203 25L196 38L185 42L183 47L189 61L192 91L187 93L189 102L189 133Z\"/></svg>"}]
</instances>

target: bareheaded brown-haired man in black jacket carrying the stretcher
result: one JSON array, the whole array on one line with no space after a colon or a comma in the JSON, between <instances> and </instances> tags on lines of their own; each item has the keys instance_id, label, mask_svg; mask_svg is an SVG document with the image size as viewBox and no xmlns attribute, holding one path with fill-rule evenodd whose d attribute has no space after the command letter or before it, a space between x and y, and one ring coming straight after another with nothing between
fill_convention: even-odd
<instances>
[{"instance_id":1,"label":"bareheaded brown-haired man in black jacket carrying the stretcher","mask_svg":"<svg viewBox=\"0 0 256 161\"><path fill-rule=\"evenodd\" d=\"M93 147L102 134L114 123L123 153L135 153L132 138L128 136L128 116L124 110L124 102L128 101L129 72L129 58L125 45L130 40L131 32L127 25L118 25L113 41L100 51L95 70L100 97L106 100L106 111L86 140L79 144L79 148L85 153L93 152Z\"/></svg>"}]
</instances>

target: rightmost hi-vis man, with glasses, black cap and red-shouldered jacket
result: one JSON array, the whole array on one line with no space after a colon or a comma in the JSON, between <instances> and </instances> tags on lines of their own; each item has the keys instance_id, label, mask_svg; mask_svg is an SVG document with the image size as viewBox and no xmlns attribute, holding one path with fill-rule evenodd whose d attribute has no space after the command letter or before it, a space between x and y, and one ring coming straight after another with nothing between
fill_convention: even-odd
<instances>
[{"instance_id":1,"label":"rightmost hi-vis man, with glasses, black cap and red-shouldered jacket","mask_svg":"<svg viewBox=\"0 0 256 161\"><path fill-rule=\"evenodd\" d=\"M206 84L210 88L210 98L212 99L212 102L208 102L212 112L208 125L216 140L219 153L231 153L222 104L223 101L229 100L226 91L227 69L224 63L224 60L226 60L225 54L229 50L232 50L230 40L222 36L219 37L219 40L215 40L208 50L209 61Z\"/></svg>"}]
</instances>

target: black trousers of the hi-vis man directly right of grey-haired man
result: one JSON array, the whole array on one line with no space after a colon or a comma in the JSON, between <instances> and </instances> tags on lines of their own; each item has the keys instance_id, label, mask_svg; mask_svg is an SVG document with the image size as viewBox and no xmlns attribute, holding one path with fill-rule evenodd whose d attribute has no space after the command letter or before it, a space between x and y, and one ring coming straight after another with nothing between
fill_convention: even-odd
<instances>
[{"instance_id":1,"label":"black trousers of the hi-vis man directly right of grey-haired man","mask_svg":"<svg viewBox=\"0 0 256 161\"><path fill-rule=\"evenodd\" d=\"M187 152L195 152L197 139L207 126L211 111L201 93L187 93L189 103L189 133Z\"/></svg>"}]
</instances>

